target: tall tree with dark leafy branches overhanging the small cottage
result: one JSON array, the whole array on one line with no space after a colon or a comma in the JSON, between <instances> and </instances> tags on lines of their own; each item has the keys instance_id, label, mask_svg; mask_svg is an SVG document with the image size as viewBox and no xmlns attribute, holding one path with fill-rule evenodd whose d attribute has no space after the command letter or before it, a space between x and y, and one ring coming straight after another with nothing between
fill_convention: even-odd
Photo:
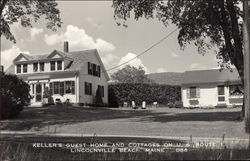
<instances>
[{"instance_id":1,"label":"tall tree with dark leafy branches overhanging the small cottage","mask_svg":"<svg viewBox=\"0 0 250 161\"><path fill-rule=\"evenodd\" d=\"M239 5L239 0L113 0L112 6L118 25L127 26L131 13L136 20L156 16L165 26L171 22L179 28L178 41L182 49L192 42L201 54L217 47L219 65L222 68L235 65L243 82L240 23L243 14Z\"/></svg>"}]
</instances>

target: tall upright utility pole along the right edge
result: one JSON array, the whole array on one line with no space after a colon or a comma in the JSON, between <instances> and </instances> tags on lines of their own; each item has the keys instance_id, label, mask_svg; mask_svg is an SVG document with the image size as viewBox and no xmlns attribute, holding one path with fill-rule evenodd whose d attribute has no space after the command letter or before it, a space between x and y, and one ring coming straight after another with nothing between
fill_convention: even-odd
<instances>
[{"instance_id":1,"label":"tall upright utility pole along the right edge","mask_svg":"<svg viewBox=\"0 0 250 161\"><path fill-rule=\"evenodd\" d=\"M243 12L245 129L250 139L250 0L243 0Z\"/></svg>"}]
</instances>

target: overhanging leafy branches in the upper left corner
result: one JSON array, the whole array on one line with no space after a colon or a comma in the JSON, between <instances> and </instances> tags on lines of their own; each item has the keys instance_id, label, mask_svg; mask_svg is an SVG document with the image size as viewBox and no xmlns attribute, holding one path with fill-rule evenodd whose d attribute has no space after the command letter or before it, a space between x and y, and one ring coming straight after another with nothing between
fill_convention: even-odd
<instances>
[{"instance_id":1,"label":"overhanging leafy branches in the upper left corner","mask_svg":"<svg viewBox=\"0 0 250 161\"><path fill-rule=\"evenodd\" d=\"M16 39L10 30L10 25L20 21L23 27L32 27L42 16L47 21L46 27L56 31L61 27L60 11L56 8L55 0L1 0L0 13L0 37L5 36L7 40L16 43Z\"/></svg>"}]
</instances>

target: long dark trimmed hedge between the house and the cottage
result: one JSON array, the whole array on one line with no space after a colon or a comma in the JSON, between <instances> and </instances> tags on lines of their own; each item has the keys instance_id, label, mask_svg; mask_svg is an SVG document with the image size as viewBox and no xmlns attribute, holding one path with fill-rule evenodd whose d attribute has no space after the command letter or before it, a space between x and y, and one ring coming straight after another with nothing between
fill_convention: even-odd
<instances>
[{"instance_id":1,"label":"long dark trimmed hedge between the house and the cottage","mask_svg":"<svg viewBox=\"0 0 250 161\"><path fill-rule=\"evenodd\" d=\"M135 101L141 105L143 101L147 104L158 102L158 104L175 104L181 101L181 87L159 84L142 83L117 83L109 85L109 104L111 106L122 106L123 102Z\"/></svg>"}]
</instances>

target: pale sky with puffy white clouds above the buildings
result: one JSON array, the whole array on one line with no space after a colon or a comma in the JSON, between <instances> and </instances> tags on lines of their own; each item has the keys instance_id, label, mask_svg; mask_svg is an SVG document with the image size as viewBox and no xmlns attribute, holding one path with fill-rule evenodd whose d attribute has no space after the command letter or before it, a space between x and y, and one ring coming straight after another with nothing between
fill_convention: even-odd
<instances>
[{"instance_id":1,"label":"pale sky with puffy white clouds above the buildings","mask_svg":"<svg viewBox=\"0 0 250 161\"><path fill-rule=\"evenodd\" d=\"M176 29L165 27L156 18L138 21L133 17L128 27L118 26L114 19L112 1L58 1L63 25L56 32L46 28L45 21L33 23L33 28L24 28L19 23L11 26L17 43L1 38L1 64L6 69L21 52L30 55L63 51L63 42L69 42L69 50L97 49L106 69L122 64ZM184 72L218 68L215 51L201 55L194 45L180 49L178 30L159 45L129 62L142 66L146 73ZM124 66L110 71L116 72Z\"/></svg>"}]
</instances>

